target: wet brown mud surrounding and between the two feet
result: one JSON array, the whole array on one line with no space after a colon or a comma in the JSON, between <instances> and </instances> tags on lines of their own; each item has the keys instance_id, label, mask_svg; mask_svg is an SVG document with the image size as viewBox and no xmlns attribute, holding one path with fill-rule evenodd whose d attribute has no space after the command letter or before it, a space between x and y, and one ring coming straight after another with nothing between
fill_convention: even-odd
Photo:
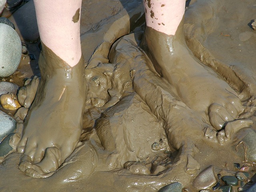
<instances>
[{"instance_id":1,"label":"wet brown mud surrounding and between the two feet","mask_svg":"<svg viewBox=\"0 0 256 192\"><path fill-rule=\"evenodd\" d=\"M254 2L190 3L184 25L189 48L228 82L245 106L254 106L256 35L248 26L256 19L252 18ZM158 191L167 184L180 182L184 189L197 192L206 183L198 179L203 170L213 166L214 178L218 180L217 174L234 176L238 172L234 163L247 163L244 165L252 177L254 151L248 144L252 152L248 152L249 160L243 162L243 148L238 146L236 152L235 147L248 132L254 132L255 126L236 133L224 145L213 142L206 134L205 122L175 98L172 88L156 75L149 58L138 48L144 27L142 3L132 0L106 4L82 4L81 40L89 87L86 108L90 110L84 114L81 145L48 178L26 176L17 168L20 154L10 154L0 166L0 189L133 192ZM209 8L210 11L203 11ZM38 43L31 46L31 52L39 55ZM23 63L20 71L27 67ZM33 69L26 71L27 78L37 75ZM95 90L90 74L105 83L99 89L101 94L90 92ZM10 78L15 80L14 76ZM22 84L20 79L16 78L18 85ZM145 87L147 92L154 92L150 99L160 102L159 108L147 102ZM255 122L254 116L249 119ZM170 124L172 129L166 129ZM237 191L238 186L233 189Z\"/></svg>"}]
</instances>

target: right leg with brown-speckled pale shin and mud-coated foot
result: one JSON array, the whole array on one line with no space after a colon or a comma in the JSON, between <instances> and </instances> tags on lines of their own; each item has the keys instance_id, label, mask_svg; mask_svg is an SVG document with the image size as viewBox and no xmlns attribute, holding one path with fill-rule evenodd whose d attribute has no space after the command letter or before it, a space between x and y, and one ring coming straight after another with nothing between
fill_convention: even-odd
<instances>
[{"instance_id":1,"label":"right leg with brown-speckled pale shin and mud-coated foot","mask_svg":"<svg viewBox=\"0 0 256 192\"><path fill-rule=\"evenodd\" d=\"M183 34L185 0L144 0L146 30L142 46L156 70L175 87L180 100L200 114L202 120L220 130L224 122L244 112L237 93L212 69L204 66L186 46ZM224 143L252 121L238 123L219 134ZM233 128L232 128L233 127ZM216 138L215 138L216 139Z\"/></svg>"}]
</instances>

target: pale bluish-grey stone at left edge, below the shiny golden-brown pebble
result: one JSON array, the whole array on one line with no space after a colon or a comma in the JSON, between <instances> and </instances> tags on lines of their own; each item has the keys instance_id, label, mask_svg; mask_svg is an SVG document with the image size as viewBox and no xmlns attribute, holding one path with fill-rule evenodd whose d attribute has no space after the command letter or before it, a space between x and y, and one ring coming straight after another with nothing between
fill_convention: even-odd
<instances>
[{"instance_id":1,"label":"pale bluish-grey stone at left edge, below the shiny golden-brown pebble","mask_svg":"<svg viewBox=\"0 0 256 192\"><path fill-rule=\"evenodd\" d=\"M16 130L16 121L8 114L0 111L0 141Z\"/></svg>"}]
</instances>

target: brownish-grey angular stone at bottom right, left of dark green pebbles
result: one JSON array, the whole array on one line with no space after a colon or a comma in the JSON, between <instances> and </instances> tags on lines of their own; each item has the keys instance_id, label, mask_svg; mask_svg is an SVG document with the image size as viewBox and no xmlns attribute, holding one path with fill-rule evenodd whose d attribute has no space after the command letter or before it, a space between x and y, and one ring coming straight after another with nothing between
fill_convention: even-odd
<instances>
[{"instance_id":1,"label":"brownish-grey angular stone at bottom right, left of dark green pebbles","mask_svg":"<svg viewBox=\"0 0 256 192\"><path fill-rule=\"evenodd\" d=\"M193 185L198 190L210 188L214 184L216 184L217 180L214 176L213 166L209 166L195 178Z\"/></svg>"}]
</instances>

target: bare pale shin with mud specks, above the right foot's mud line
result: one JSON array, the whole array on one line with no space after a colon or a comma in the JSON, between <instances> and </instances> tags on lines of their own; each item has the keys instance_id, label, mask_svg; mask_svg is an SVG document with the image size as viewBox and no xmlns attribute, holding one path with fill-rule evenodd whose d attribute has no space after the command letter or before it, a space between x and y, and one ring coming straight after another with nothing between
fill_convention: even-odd
<instances>
[{"instance_id":1,"label":"bare pale shin with mud specks, above the right foot's mud line","mask_svg":"<svg viewBox=\"0 0 256 192\"><path fill-rule=\"evenodd\" d=\"M185 12L185 0L144 0L146 25L174 35Z\"/></svg>"}]
</instances>

